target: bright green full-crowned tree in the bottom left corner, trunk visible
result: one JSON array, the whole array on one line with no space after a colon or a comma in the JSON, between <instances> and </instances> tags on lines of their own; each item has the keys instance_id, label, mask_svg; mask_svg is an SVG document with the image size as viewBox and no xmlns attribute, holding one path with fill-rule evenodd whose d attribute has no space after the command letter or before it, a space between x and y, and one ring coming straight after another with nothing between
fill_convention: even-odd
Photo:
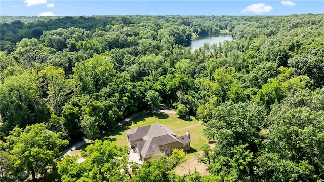
<instances>
[{"instance_id":1,"label":"bright green full-crowned tree in the bottom left corner, trunk visible","mask_svg":"<svg viewBox=\"0 0 324 182\"><path fill-rule=\"evenodd\" d=\"M29 171L33 181L36 181L36 174L44 175L56 167L56 159L61 156L60 147L68 144L61 139L60 133L48 130L44 123L27 126L24 130L16 127L5 139L14 156L15 167Z\"/></svg>"}]
</instances>

